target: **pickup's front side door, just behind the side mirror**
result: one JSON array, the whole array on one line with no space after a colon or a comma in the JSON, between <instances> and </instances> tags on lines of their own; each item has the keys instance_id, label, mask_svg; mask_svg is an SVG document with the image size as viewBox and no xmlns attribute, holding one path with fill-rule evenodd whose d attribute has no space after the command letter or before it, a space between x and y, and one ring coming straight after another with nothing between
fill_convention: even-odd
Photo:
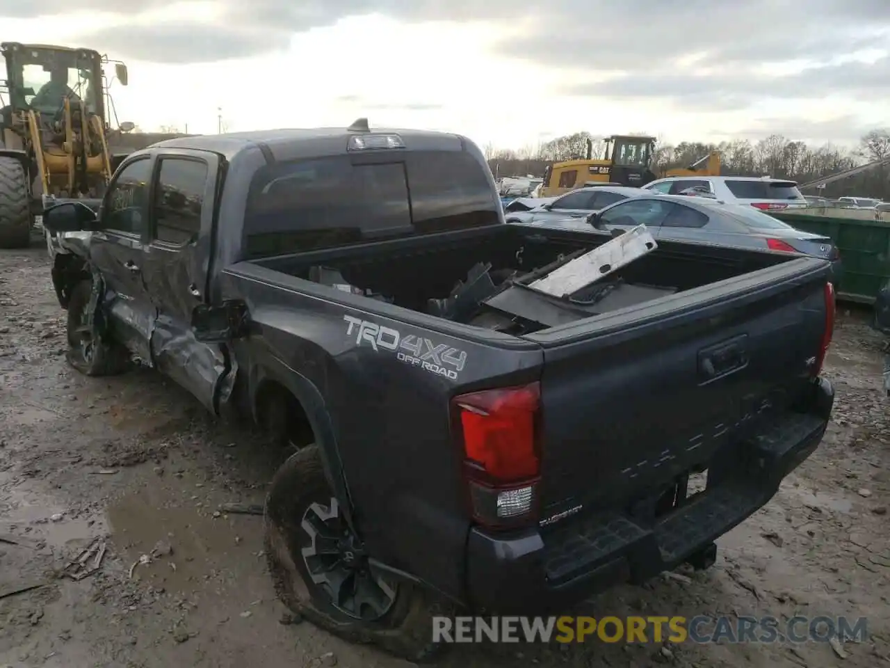
<instances>
[{"instance_id":1,"label":"pickup's front side door, just behind the side mirror","mask_svg":"<svg viewBox=\"0 0 890 668\"><path fill-rule=\"evenodd\" d=\"M109 184L90 261L105 282L103 308L115 340L150 363L155 309L145 289L143 248L149 230L150 156L125 164Z\"/></svg>"}]
</instances>

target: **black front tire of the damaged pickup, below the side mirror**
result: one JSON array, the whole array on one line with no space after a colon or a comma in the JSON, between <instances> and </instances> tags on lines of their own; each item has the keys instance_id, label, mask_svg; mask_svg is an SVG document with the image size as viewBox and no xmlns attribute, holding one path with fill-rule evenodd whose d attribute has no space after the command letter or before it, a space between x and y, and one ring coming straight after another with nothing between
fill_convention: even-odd
<instances>
[{"instance_id":1,"label":"black front tire of the damaged pickup, below the side mirror","mask_svg":"<svg viewBox=\"0 0 890 668\"><path fill-rule=\"evenodd\" d=\"M93 296L93 281L80 281L71 289L68 302L68 363L85 376L115 376L127 371L130 354L124 346L102 334L95 322L84 322L84 314ZM84 354L82 335L89 328L92 353Z\"/></svg>"}]
</instances>

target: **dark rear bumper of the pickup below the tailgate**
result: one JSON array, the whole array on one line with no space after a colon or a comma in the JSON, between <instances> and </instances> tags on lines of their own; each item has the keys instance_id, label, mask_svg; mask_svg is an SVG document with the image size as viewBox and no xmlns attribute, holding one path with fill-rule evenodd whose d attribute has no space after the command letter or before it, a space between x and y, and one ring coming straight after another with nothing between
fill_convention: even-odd
<instances>
[{"instance_id":1,"label":"dark rear bumper of the pickup below the tailgate","mask_svg":"<svg viewBox=\"0 0 890 668\"><path fill-rule=\"evenodd\" d=\"M473 529L468 542L468 598L500 614L564 612L620 582L645 582L694 558L756 512L819 445L834 404L827 379L813 382L805 412L788 412L722 452L723 476L685 505L643 526L611 512L564 520L553 533L531 529L509 538ZM728 457L728 460L727 460ZM713 471L712 467L710 470Z\"/></svg>"}]
</instances>

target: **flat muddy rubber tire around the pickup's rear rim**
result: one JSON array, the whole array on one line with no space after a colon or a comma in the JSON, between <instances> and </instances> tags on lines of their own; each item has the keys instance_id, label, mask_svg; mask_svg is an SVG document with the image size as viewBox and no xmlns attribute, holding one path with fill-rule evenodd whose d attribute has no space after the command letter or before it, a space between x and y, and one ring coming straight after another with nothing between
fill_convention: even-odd
<instances>
[{"instance_id":1,"label":"flat muddy rubber tire around the pickup's rear rim","mask_svg":"<svg viewBox=\"0 0 890 668\"><path fill-rule=\"evenodd\" d=\"M305 563L286 534L298 528L306 509L332 497L318 446L308 445L291 455L272 478L266 499L264 547L275 592L293 612L316 626L357 643L373 643L409 661L432 658L441 645L433 643L433 615L453 615L452 607L410 582L400 582L392 607L374 622L344 615L312 582ZM289 526L289 528L281 527Z\"/></svg>"}]
</instances>

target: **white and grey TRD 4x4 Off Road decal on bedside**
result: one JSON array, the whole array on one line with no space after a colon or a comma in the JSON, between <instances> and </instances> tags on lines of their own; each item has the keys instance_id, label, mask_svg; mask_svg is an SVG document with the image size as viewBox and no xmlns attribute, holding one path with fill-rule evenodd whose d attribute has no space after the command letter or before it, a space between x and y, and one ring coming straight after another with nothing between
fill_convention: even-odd
<instances>
[{"instance_id":1,"label":"white and grey TRD 4x4 Off Road decal on bedside","mask_svg":"<svg viewBox=\"0 0 890 668\"><path fill-rule=\"evenodd\" d=\"M424 371L457 380L457 373L464 370L466 351L447 344L435 344L429 338L415 334L402 334L392 327L384 327L374 322L344 315L346 336L354 336L357 346L371 346L376 351L388 350L395 353L400 362L418 366Z\"/></svg>"}]
</instances>

